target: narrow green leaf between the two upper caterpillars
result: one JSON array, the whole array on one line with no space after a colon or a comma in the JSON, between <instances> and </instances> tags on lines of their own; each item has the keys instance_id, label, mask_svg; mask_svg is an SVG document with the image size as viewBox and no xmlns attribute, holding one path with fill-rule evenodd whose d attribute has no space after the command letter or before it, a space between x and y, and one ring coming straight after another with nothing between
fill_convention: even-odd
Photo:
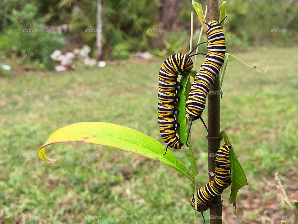
<instances>
[{"instance_id":1,"label":"narrow green leaf between the two upper caterpillars","mask_svg":"<svg viewBox=\"0 0 298 224\"><path fill-rule=\"evenodd\" d=\"M176 108L179 110L179 113L176 116L177 122L180 124L179 128L177 129L179 139L182 143L186 144L186 138L188 133L188 126L189 121L186 119L185 114L185 105L187 101L188 94L190 92L190 76L194 76L197 72L191 71L184 74L184 76L180 79L180 84L183 86L182 89L177 91L177 96L180 97L180 100L176 104ZM188 139L189 145L189 155L190 155L190 162L192 166L192 174L199 173L198 168L196 166L196 160L192 151L192 141L191 135Z\"/></svg>"}]
</instances>

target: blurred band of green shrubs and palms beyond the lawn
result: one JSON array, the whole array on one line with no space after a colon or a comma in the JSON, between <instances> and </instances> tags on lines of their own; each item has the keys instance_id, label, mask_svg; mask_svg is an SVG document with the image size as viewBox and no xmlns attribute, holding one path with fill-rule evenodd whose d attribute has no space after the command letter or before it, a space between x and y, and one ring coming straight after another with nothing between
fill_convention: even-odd
<instances>
[{"instance_id":1,"label":"blurred band of green shrubs and palms beyond the lawn","mask_svg":"<svg viewBox=\"0 0 298 224\"><path fill-rule=\"evenodd\" d=\"M205 1L197 2L205 8ZM135 51L160 56L187 51L191 10L191 0L102 1L104 59L126 59ZM295 45L297 12L297 0L228 0L225 33L229 51L268 42ZM92 47L94 56L96 32L86 29L96 29L96 13L96 0L2 0L0 57L16 55L51 67L48 58L53 50L73 50L83 44ZM194 19L195 44L201 25L196 15ZM60 27L67 28L61 31Z\"/></svg>"}]
</instances>

